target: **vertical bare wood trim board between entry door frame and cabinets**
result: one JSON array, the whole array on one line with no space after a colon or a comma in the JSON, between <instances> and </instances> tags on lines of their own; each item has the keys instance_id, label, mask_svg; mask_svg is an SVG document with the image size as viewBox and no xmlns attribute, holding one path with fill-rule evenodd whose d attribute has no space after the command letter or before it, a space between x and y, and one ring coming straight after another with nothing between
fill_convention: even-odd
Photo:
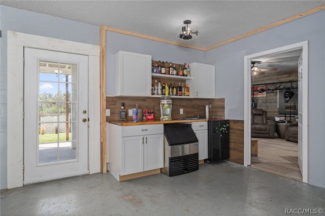
<instances>
[{"instance_id":1,"label":"vertical bare wood trim board between entry door frame and cabinets","mask_svg":"<svg viewBox=\"0 0 325 216\"><path fill-rule=\"evenodd\" d=\"M101 172L107 172L106 155L106 29L101 25L101 53L100 53L100 91L101 91Z\"/></svg>"}]
</instances>

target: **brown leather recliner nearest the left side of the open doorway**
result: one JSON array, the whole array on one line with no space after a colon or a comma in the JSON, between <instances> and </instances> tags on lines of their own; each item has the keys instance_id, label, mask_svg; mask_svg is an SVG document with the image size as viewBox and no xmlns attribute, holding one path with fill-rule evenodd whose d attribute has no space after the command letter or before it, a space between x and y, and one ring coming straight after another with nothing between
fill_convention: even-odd
<instances>
[{"instance_id":1,"label":"brown leather recliner nearest the left side of the open doorway","mask_svg":"<svg viewBox=\"0 0 325 216\"><path fill-rule=\"evenodd\" d=\"M274 138L275 121L267 119L267 112L262 109L252 109L251 137Z\"/></svg>"}]
</instances>

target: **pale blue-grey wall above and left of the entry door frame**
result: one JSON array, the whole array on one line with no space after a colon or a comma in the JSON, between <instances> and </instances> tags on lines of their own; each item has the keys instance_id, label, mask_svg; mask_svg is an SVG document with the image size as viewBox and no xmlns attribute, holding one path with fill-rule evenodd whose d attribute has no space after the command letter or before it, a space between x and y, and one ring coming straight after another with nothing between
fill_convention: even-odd
<instances>
[{"instance_id":1,"label":"pale blue-grey wall above and left of the entry door frame","mask_svg":"<svg viewBox=\"0 0 325 216\"><path fill-rule=\"evenodd\" d=\"M1 189L7 188L7 31L35 34L85 44L100 45L100 27L67 19L0 6L0 142ZM9 107L10 109L10 107Z\"/></svg>"}]
</instances>

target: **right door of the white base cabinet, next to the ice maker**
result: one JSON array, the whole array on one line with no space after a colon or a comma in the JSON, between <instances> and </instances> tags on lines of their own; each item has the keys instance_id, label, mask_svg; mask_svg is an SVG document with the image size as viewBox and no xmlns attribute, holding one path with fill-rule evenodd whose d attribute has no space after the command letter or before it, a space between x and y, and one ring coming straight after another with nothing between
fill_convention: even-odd
<instances>
[{"instance_id":1,"label":"right door of the white base cabinet, next to the ice maker","mask_svg":"<svg viewBox=\"0 0 325 216\"><path fill-rule=\"evenodd\" d=\"M164 135L145 135L144 171L164 167Z\"/></svg>"}]
</instances>

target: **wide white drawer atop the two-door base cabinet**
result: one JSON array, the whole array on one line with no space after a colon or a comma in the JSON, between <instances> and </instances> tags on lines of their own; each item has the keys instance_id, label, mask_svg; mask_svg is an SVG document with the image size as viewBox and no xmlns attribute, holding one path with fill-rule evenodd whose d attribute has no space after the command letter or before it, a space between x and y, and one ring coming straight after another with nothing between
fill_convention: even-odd
<instances>
[{"instance_id":1,"label":"wide white drawer atop the two-door base cabinet","mask_svg":"<svg viewBox=\"0 0 325 216\"><path fill-rule=\"evenodd\" d=\"M164 125L135 125L135 126L122 126L121 136L141 136L149 134L164 133Z\"/></svg>"}]
</instances>

